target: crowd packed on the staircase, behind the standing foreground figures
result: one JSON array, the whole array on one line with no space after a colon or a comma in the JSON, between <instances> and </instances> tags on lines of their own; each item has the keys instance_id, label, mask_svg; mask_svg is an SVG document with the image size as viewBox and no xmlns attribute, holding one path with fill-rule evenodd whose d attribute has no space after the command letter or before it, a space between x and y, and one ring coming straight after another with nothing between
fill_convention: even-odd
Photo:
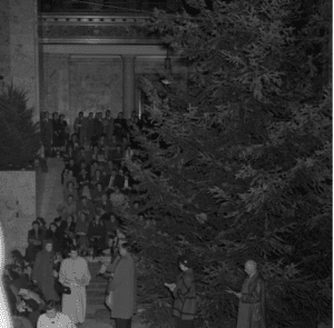
<instances>
[{"instance_id":1,"label":"crowd packed on the staircase, behind the standing foreground figures","mask_svg":"<svg viewBox=\"0 0 334 328\"><path fill-rule=\"evenodd\" d=\"M136 112L129 120L124 119L121 112L112 119L109 110L105 117L101 112L90 112L88 117L79 112L73 123L75 133L69 137L67 122L63 118L60 122L60 117L56 112L50 120L45 112L41 118L45 157L61 156L65 160L60 178L63 201L58 207L59 216L43 232L62 255L71 245L79 247L80 255L92 250L94 256L98 256L106 248L114 252L121 213L127 211L139 220L145 219L139 202L132 201L137 181L127 166L129 161L143 160L132 131L143 129L145 119L139 119ZM40 250L42 238L35 223L31 230L35 240L29 238L27 250L29 260Z\"/></svg>"}]
</instances>

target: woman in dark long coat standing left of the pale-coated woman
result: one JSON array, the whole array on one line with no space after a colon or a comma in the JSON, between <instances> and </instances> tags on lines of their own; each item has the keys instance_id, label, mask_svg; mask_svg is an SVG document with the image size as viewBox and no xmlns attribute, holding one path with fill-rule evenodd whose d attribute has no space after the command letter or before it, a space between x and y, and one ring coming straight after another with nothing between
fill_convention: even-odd
<instances>
[{"instance_id":1,"label":"woman in dark long coat standing left of the pale-coated woman","mask_svg":"<svg viewBox=\"0 0 334 328\"><path fill-rule=\"evenodd\" d=\"M55 277L53 277L53 257L55 251L52 249L52 240L45 240L43 250L39 251L32 268L31 279L43 294L45 299L59 300L59 296L55 290Z\"/></svg>"}]
</instances>

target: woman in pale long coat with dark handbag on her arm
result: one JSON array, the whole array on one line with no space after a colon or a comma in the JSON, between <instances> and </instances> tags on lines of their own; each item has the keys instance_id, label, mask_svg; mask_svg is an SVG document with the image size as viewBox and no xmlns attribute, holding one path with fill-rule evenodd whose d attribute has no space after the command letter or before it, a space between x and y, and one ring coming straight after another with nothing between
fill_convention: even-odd
<instances>
[{"instance_id":1,"label":"woman in pale long coat with dark handbag on her arm","mask_svg":"<svg viewBox=\"0 0 334 328\"><path fill-rule=\"evenodd\" d=\"M86 259L78 256L76 247L70 248L69 258L61 262L59 281L71 289L69 295L62 295L62 312L70 317L73 324L84 324L86 318L86 287L90 281Z\"/></svg>"}]
</instances>

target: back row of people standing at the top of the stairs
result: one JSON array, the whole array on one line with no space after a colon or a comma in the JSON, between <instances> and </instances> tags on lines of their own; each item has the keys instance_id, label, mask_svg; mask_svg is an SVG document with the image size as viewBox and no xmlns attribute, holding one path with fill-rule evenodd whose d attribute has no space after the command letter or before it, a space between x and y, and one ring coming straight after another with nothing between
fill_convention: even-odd
<instances>
[{"instance_id":1,"label":"back row of people standing at the top of the stairs","mask_svg":"<svg viewBox=\"0 0 334 328\"><path fill-rule=\"evenodd\" d=\"M87 117L80 111L71 129L63 115L53 112L50 118L50 113L45 111L40 117L41 143L47 157L59 156L66 150L71 156L79 148L89 148L91 156L102 159L109 157L108 152L115 150L117 145L126 147L130 142L137 148L131 132L136 127L141 130L146 125L147 116L139 118L136 111L131 112L129 119L125 119L122 112L114 119L110 110L106 110L105 117L100 111L89 112Z\"/></svg>"}]
</instances>

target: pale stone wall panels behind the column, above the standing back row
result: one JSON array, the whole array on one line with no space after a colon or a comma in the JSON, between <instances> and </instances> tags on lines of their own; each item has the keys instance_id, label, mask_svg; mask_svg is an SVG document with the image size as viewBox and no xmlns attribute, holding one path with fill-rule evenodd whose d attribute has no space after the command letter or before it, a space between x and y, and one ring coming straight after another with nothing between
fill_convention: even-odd
<instances>
[{"instance_id":1,"label":"pale stone wall panels behind the column, above the standing back row","mask_svg":"<svg viewBox=\"0 0 334 328\"><path fill-rule=\"evenodd\" d=\"M72 128L79 111L111 111L114 118L122 110L122 60L120 56L72 56L41 53L41 109L63 113ZM137 57L136 80L140 76L159 77L165 72L165 57ZM176 60L173 72L186 88L187 69ZM137 85L138 88L138 85ZM138 95L138 92L136 92ZM138 101L136 101L138 105Z\"/></svg>"}]
</instances>

